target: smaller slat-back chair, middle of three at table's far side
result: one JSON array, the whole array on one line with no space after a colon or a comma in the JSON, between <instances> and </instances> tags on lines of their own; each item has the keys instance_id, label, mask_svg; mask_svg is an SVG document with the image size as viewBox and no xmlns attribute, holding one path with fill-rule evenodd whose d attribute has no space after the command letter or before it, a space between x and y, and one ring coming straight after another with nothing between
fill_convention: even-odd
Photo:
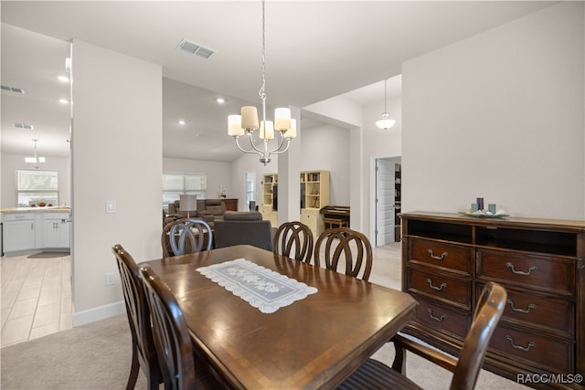
<instances>
[{"instance_id":1,"label":"smaller slat-back chair, middle of three at table's far side","mask_svg":"<svg viewBox=\"0 0 585 390\"><path fill-rule=\"evenodd\" d=\"M313 241L313 232L310 227L298 221L285 222L276 229L272 248L277 255L310 264L313 256Z\"/></svg>"}]
</instances>

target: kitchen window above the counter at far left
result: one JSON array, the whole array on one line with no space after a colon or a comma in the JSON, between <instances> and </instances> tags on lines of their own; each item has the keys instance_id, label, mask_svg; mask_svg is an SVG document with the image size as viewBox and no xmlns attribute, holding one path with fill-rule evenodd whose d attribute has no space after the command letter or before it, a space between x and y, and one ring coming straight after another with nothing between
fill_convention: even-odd
<instances>
[{"instance_id":1,"label":"kitchen window above the counter at far left","mask_svg":"<svg viewBox=\"0 0 585 390\"><path fill-rule=\"evenodd\" d=\"M58 206L58 172L16 170L16 206Z\"/></svg>"}]
</instances>

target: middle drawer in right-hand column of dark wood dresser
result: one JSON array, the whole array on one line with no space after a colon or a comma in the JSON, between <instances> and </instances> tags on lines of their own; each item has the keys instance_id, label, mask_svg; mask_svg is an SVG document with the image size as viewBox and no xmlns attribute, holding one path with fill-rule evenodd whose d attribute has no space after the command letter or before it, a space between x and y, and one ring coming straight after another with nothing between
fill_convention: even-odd
<instances>
[{"instance_id":1,"label":"middle drawer in right-hand column of dark wood dresser","mask_svg":"<svg viewBox=\"0 0 585 390\"><path fill-rule=\"evenodd\" d=\"M477 296L483 288L483 284L477 284ZM575 336L575 305L569 300L558 300L510 289L506 289L506 292L507 300L502 321L538 328L562 337Z\"/></svg>"}]
</instances>

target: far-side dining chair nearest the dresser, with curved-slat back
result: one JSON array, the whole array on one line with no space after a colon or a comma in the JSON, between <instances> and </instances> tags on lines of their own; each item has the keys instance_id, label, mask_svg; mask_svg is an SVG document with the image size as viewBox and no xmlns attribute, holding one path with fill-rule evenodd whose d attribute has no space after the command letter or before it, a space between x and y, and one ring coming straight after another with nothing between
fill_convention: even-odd
<instances>
[{"instance_id":1,"label":"far-side dining chair nearest the dresser, with curved-slat back","mask_svg":"<svg viewBox=\"0 0 585 390\"><path fill-rule=\"evenodd\" d=\"M322 248L323 252L322 252ZM365 235L349 227L327 229L314 245L314 265L320 267L324 256L326 269L337 270L339 260L346 260L346 275L367 281L372 272L372 245ZM362 271L362 266L365 267Z\"/></svg>"}]
</instances>

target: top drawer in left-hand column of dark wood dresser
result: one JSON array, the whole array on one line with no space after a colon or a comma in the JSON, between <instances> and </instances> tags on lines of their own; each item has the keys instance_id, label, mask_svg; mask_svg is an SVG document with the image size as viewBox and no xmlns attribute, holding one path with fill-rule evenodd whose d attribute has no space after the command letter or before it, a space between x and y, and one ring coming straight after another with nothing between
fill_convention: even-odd
<instances>
[{"instance_id":1,"label":"top drawer in left-hand column of dark wood dresser","mask_svg":"<svg viewBox=\"0 0 585 390\"><path fill-rule=\"evenodd\" d=\"M473 249L425 239L410 240L409 261L471 274Z\"/></svg>"}]
</instances>

